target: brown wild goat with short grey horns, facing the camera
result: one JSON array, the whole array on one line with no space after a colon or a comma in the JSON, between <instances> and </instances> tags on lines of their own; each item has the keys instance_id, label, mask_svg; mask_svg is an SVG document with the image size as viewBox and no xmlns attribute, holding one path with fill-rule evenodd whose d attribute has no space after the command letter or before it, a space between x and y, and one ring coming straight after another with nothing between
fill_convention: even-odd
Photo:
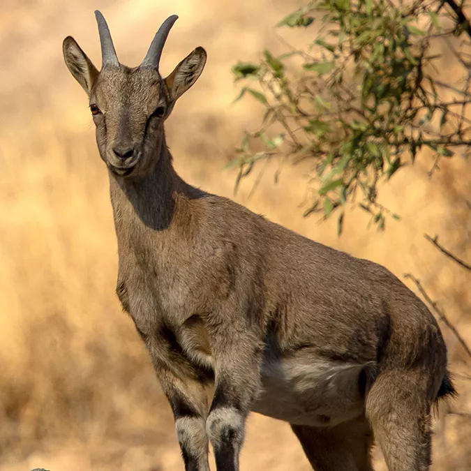
<instances>
[{"instance_id":1,"label":"brown wild goat with short grey horns, facing the camera","mask_svg":"<svg viewBox=\"0 0 471 471\"><path fill-rule=\"evenodd\" d=\"M163 79L176 15L136 68L96 18L100 72L70 36L63 54L108 167L117 295L172 406L186 470L209 470L208 439L218 471L238 470L250 411L289 422L317 471L372 470L373 435L390 470L428 470L431 407L454 387L426 306L384 267L186 184L164 122L206 52Z\"/></svg>"}]
</instances>

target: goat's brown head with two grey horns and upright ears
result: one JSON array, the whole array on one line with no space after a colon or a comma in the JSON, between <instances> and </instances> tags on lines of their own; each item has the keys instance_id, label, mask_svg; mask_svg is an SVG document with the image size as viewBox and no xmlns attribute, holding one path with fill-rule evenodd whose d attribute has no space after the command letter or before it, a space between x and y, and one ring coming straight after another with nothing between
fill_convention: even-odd
<instances>
[{"instance_id":1,"label":"goat's brown head with two grey horns and upright ears","mask_svg":"<svg viewBox=\"0 0 471 471\"><path fill-rule=\"evenodd\" d=\"M89 96L101 158L119 177L143 174L160 154L163 122L177 98L200 77L207 55L197 47L168 77L160 76L160 55L178 18L172 15L158 29L141 65L126 67L118 61L105 18L99 11L95 15L101 42L100 72L71 36L63 40L63 57Z\"/></svg>"}]
</instances>

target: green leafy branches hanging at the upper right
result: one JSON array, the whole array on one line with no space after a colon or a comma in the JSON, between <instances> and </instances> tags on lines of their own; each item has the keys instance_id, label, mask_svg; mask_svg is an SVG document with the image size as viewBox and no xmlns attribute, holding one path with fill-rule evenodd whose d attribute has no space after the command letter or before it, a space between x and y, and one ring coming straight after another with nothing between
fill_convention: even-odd
<instances>
[{"instance_id":1,"label":"green leafy branches hanging at the upper right","mask_svg":"<svg viewBox=\"0 0 471 471\"><path fill-rule=\"evenodd\" d=\"M461 45L470 25L454 1L313 0L276 27L305 29L308 44L232 68L244 83L237 100L266 110L230 163L236 189L260 160L309 159L304 216L335 215L340 234L350 204L382 230L399 216L378 202L380 184L424 148L431 173L441 158L468 156L470 54ZM440 70L450 60L461 73Z\"/></svg>"}]
</instances>

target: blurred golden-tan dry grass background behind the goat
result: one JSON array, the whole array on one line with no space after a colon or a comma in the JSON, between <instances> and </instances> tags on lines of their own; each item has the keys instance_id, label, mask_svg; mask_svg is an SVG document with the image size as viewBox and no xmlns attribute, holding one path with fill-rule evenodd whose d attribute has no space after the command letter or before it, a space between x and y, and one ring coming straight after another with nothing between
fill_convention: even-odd
<instances>
[{"instance_id":1,"label":"blurred golden-tan dry grass background behind the goat","mask_svg":"<svg viewBox=\"0 0 471 471\"><path fill-rule=\"evenodd\" d=\"M121 62L144 57L160 23L170 33L163 75L197 45L207 66L167 121L167 142L184 179L233 197L301 234L384 264L399 278L412 272L471 342L466 272L423 234L471 259L470 163L417 160L382 190L400 222L386 232L355 211L343 235L335 223L302 218L307 169L285 167L278 184L264 174L249 197L234 195L236 170L224 169L245 129L260 121L256 102L233 103L231 66L256 60L264 47L283 52L274 24L302 6L294 0L3 0L0 17L0 469L183 470L170 407L132 322L114 294L117 246L107 172L98 157L87 97L63 63L61 43L74 36L100 65L94 19L110 25ZM287 31L296 43L305 31ZM285 32L283 32L283 35ZM446 73L453 74L453 70ZM405 192L405 188L408 191ZM412 188L412 190L411 190ZM411 197L412 195L412 197ZM468 278L469 280L469 278ZM468 283L468 284L466 284ZM412 289L414 287L410 285ZM461 393L460 414L436 421L434 470L470 470L470 382L465 357L442 326ZM469 374L469 368L468 368ZM384 470L375 451L377 469ZM289 426L253 414L242 469L309 470Z\"/></svg>"}]
</instances>

